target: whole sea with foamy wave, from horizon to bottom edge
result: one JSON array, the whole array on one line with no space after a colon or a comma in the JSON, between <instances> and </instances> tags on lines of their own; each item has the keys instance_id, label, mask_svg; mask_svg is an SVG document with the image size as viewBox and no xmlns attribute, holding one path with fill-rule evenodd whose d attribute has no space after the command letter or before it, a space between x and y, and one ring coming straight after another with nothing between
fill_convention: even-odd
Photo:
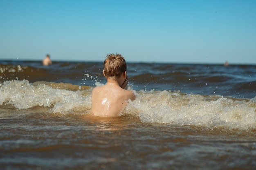
<instances>
[{"instance_id":1,"label":"whole sea with foamy wave, from horizon to bottom edge","mask_svg":"<svg viewBox=\"0 0 256 170\"><path fill-rule=\"evenodd\" d=\"M256 169L256 65L127 67L136 99L95 117L103 61L0 60L0 169Z\"/></svg>"}]
</instances>

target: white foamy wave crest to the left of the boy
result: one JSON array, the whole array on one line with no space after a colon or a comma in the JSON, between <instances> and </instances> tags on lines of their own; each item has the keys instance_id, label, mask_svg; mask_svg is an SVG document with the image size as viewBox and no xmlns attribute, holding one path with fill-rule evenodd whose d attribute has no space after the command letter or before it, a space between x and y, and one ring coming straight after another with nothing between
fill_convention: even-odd
<instances>
[{"instance_id":1,"label":"white foamy wave crest to the left of the boy","mask_svg":"<svg viewBox=\"0 0 256 170\"><path fill-rule=\"evenodd\" d=\"M56 86L63 88L61 83L33 85L27 80L6 81L0 86L0 105L12 105L18 109L45 106L49 107L49 112L52 113L88 112L91 105L90 95L88 95L90 89L89 91L70 91L56 88Z\"/></svg>"}]
</instances>

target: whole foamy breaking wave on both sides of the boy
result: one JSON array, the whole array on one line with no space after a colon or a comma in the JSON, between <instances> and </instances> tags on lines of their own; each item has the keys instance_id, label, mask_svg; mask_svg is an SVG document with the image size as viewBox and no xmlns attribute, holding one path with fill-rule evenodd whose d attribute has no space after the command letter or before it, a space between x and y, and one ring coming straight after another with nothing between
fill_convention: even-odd
<instances>
[{"instance_id":1,"label":"whole foamy breaking wave on both sides of the boy","mask_svg":"<svg viewBox=\"0 0 256 170\"><path fill-rule=\"evenodd\" d=\"M96 86L101 86L99 82ZM0 84L0 107L47 107L47 113L90 115L91 86L11 80ZM130 90L132 88L130 87ZM134 91L136 99L121 115L136 116L144 123L256 129L256 97L183 94L171 91Z\"/></svg>"}]
</instances>

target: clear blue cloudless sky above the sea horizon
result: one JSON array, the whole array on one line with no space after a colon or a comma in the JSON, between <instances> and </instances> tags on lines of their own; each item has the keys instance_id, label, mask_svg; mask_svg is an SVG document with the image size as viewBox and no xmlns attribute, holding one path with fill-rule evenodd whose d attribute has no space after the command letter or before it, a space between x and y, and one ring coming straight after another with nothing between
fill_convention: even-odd
<instances>
[{"instance_id":1,"label":"clear blue cloudless sky above the sea horizon","mask_svg":"<svg viewBox=\"0 0 256 170\"><path fill-rule=\"evenodd\" d=\"M256 64L255 0L0 0L0 60Z\"/></svg>"}]
</instances>

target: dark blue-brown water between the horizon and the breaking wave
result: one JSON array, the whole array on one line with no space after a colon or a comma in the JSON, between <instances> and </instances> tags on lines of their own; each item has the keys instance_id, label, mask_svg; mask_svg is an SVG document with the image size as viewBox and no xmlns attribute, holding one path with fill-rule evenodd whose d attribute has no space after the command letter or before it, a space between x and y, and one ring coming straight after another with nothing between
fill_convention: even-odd
<instances>
[{"instance_id":1,"label":"dark blue-brown water between the horizon and the breaking wave","mask_svg":"<svg viewBox=\"0 0 256 170\"><path fill-rule=\"evenodd\" d=\"M95 82L106 83L102 74L103 64L99 62L54 62L48 67L42 66L41 62L0 61L0 64L6 69L1 73L1 81L18 78L29 82L86 86L95 86ZM18 71L18 66L22 71ZM154 89L240 98L256 96L254 65L128 63L128 77L136 91Z\"/></svg>"}]
</instances>

